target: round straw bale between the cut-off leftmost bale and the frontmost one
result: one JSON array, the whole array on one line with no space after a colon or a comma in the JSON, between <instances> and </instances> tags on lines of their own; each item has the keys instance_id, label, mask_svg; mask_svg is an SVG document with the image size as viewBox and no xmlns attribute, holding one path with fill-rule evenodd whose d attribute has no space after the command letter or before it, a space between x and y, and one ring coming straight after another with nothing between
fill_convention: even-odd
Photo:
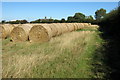
<instances>
[{"instance_id":1,"label":"round straw bale between the cut-off leftmost bale and the frontmost one","mask_svg":"<svg viewBox=\"0 0 120 80\"><path fill-rule=\"evenodd\" d=\"M19 25L18 27L15 27L10 34L12 41L14 42L27 41L28 34L32 26L33 25L31 24L22 24Z\"/></svg>"}]
</instances>

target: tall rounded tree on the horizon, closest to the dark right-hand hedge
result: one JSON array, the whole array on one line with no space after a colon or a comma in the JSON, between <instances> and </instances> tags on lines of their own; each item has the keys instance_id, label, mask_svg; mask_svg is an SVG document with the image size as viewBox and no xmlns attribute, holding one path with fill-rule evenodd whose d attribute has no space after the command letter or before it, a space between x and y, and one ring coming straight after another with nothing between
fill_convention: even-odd
<instances>
[{"instance_id":1,"label":"tall rounded tree on the horizon, closest to the dark right-hand hedge","mask_svg":"<svg viewBox=\"0 0 120 80\"><path fill-rule=\"evenodd\" d=\"M95 18L97 21L100 21L106 15L106 10L101 8L95 12Z\"/></svg>"}]
</instances>

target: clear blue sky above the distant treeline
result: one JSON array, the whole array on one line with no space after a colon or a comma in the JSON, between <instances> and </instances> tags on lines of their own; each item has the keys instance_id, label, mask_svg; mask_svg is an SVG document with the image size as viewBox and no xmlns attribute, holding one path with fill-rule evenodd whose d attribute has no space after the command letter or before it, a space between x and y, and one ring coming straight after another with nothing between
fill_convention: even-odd
<instances>
[{"instance_id":1,"label":"clear blue sky above the distant treeline","mask_svg":"<svg viewBox=\"0 0 120 80\"><path fill-rule=\"evenodd\" d=\"M95 11L100 8L110 12L117 6L117 2L2 2L2 19L32 21L45 16L53 19L67 19L76 12L94 16Z\"/></svg>"}]
</instances>

